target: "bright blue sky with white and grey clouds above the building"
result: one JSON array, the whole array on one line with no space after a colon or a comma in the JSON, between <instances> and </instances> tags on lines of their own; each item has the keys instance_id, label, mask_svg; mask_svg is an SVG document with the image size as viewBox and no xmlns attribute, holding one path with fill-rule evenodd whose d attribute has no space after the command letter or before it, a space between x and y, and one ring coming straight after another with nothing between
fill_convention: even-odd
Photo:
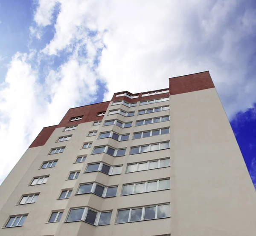
<instances>
[{"instance_id":1,"label":"bright blue sky with white and grey clouds above the building","mask_svg":"<svg viewBox=\"0 0 256 236\"><path fill-rule=\"evenodd\" d=\"M208 71L256 186L254 0L1 0L0 183L69 108Z\"/></svg>"}]
</instances>

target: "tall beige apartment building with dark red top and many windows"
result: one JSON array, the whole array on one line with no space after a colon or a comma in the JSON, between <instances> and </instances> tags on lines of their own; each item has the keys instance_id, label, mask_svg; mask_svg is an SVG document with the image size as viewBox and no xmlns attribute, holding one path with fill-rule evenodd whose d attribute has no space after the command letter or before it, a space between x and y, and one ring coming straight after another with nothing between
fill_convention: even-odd
<instances>
[{"instance_id":1,"label":"tall beige apartment building with dark red top and many windows","mask_svg":"<svg viewBox=\"0 0 256 236\"><path fill-rule=\"evenodd\" d=\"M209 71L71 108L43 128L0 186L0 227L1 236L255 236L256 192Z\"/></svg>"}]
</instances>

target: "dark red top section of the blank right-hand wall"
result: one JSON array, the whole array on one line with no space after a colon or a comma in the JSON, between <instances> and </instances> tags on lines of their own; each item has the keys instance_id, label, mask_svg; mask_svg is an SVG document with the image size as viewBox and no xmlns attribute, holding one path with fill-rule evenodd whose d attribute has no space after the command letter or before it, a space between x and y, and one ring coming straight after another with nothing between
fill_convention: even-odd
<instances>
[{"instance_id":1,"label":"dark red top section of the blank right-hand wall","mask_svg":"<svg viewBox=\"0 0 256 236\"><path fill-rule=\"evenodd\" d=\"M169 78L170 95L214 88L209 71Z\"/></svg>"}]
</instances>

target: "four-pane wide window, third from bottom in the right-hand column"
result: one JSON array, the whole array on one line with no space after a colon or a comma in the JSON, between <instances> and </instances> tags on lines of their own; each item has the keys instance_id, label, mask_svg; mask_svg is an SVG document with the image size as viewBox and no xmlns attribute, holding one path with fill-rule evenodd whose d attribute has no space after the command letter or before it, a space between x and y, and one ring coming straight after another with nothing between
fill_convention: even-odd
<instances>
[{"instance_id":1,"label":"four-pane wide window, third from bottom in the right-hand column","mask_svg":"<svg viewBox=\"0 0 256 236\"><path fill-rule=\"evenodd\" d=\"M136 171L145 171L145 170L151 170L151 169L157 169L157 168L163 168L163 167L169 167L170 166L170 158L166 159L158 159L148 162L139 162L134 164L128 164L126 173L136 172Z\"/></svg>"}]
</instances>

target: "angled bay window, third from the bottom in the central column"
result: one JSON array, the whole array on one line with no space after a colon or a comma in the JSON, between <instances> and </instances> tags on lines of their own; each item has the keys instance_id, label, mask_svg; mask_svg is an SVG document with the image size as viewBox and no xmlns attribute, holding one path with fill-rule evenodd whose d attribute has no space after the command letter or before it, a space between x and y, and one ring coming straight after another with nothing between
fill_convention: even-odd
<instances>
[{"instance_id":1,"label":"angled bay window, third from the bottom in the central column","mask_svg":"<svg viewBox=\"0 0 256 236\"><path fill-rule=\"evenodd\" d=\"M88 164L85 173L93 172L93 171L101 171L108 175L120 174L122 171L122 165L111 166L111 165L106 165L103 162Z\"/></svg>"}]
</instances>

